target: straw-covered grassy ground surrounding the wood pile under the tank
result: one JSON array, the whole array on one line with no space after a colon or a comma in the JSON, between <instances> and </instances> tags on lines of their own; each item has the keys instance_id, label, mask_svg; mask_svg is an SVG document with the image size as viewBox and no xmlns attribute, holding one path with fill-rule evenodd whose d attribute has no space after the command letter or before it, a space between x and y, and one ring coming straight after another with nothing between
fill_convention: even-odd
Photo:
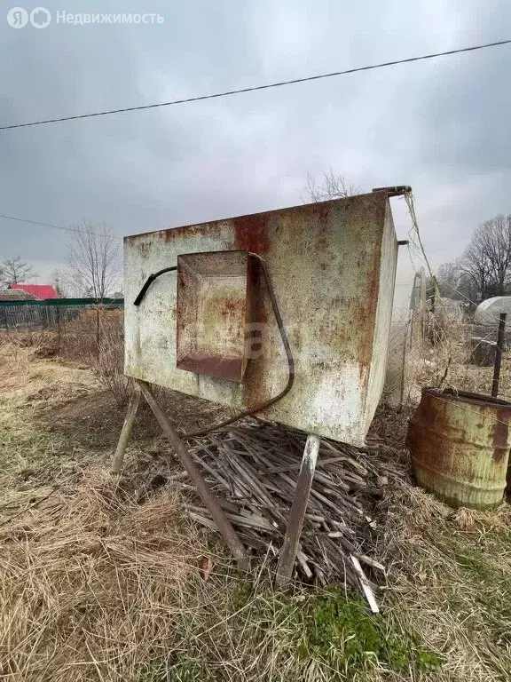
<instances>
[{"instance_id":1,"label":"straw-covered grassy ground surrounding the wood pile under the tank","mask_svg":"<svg viewBox=\"0 0 511 682\"><path fill-rule=\"evenodd\" d=\"M226 414L163 400L183 430ZM409 463L409 415L379 410L378 456ZM264 563L239 575L217 535L185 514L172 483L182 470L146 409L112 477L122 420L83 364L0 345L0 678L511 679L509 505L453 511L412 480L388 486L372 616L343 585L274 591Z\"/></svg>"}]
</instances>

